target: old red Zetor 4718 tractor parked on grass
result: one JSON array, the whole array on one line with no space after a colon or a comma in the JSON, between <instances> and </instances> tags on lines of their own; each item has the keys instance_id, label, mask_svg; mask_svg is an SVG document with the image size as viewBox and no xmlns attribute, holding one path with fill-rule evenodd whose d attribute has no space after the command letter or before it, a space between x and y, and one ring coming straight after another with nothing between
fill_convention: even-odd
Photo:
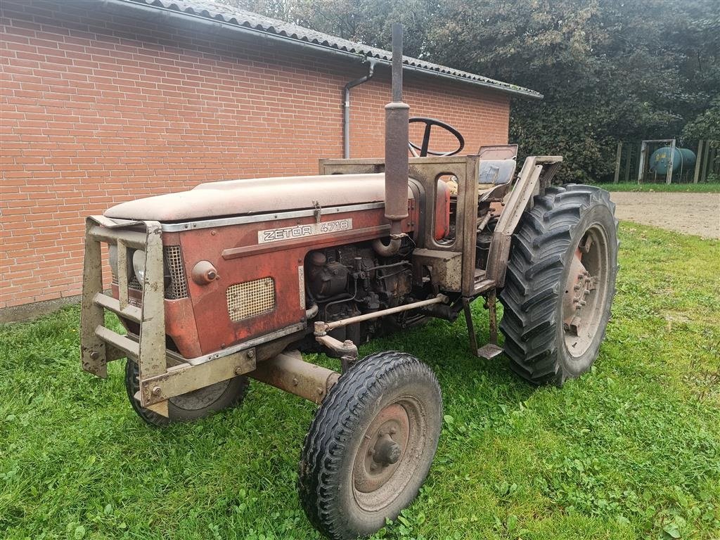
<instances>
[{"instance_id":1,"label":"old red Zetor 4718 tractor parked on grass","mask_svg":"<svg viewBox=\"0 0 720 540\"><path fill-rule=\"evenodd\" d=\"M130 404L160 426L238 405L248 377L318 403L298 483L308 518L332 539L372 534L410 504L443 418L426 364L399 351L359 359L357 346L463 313L472 354L504 352L529 382L560 385L593 364L615 291L608 194L552 186L557 156L526 158L517 175L516 146L459 156L453 127L409 118L401 58L396 26L384 160L201 184L86 225L83 369L106 377L107 362L127 358ZM413 158L409 122L426 125ZM433 126L459 148L429 150ZM482 347L470 311L480 297L490 318ZM126 335L104 326L105 310ZM317 351L341 359L341 373L302 359Z\"/></svg>"}]
</instances>

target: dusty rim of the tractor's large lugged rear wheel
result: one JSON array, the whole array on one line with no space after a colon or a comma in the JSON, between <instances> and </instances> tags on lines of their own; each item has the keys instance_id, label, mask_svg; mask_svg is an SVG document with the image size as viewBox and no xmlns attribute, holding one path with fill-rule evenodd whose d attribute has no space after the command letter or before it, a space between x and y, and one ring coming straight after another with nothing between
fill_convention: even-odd
<instances>
[{"instance_id":1,"label":"dusty rim of the tractor's large lugged rear wheel","mask_svg":"<svg viewBox=\"0 0 720 540\"><path fill-rule=\"evenodd\" d=\"M606 309L608 238L592 225L575 246L562 298L565 348L573 358L586 352L600 331Z\"/></svg>"}]
</instances>

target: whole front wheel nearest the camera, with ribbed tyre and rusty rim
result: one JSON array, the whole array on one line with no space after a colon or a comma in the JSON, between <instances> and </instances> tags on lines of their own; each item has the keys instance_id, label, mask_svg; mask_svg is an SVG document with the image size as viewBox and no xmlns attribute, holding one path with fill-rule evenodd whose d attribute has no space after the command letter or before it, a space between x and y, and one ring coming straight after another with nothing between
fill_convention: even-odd
<instances>
[{"instance_id":1,"label":"whole front wheel nearest the camera, with ribbed tyre and rusty rim","mask_svg":"<svg viewBox=\"0 0 720 540\"><path fill-rule=\"evenodd\" d=\"M438 445L442 397L409 354L372 354L320 405L300 456L300 502L333 540L373 534L418 494Z\"/></svg>"}]
</instances>

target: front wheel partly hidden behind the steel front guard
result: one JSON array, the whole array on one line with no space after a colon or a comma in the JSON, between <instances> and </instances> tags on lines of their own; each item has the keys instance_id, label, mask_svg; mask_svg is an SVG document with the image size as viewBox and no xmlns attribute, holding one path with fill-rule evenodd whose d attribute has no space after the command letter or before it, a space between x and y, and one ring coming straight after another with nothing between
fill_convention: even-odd
<instances>
[{"instance_id":1,"label":"front wheel partly hidden behind the steel front guard","mask_svg":"<svg viewBox=\"0 0 720 540\"><path fill-rule=\"evenodd\" d=\"M240 405L248 390L247 377L233 377L210 386L187 392L168 400L168 418L146 409L135 399L140 390L138 364L128 359L125 364L125 390L130 405L138 416L153 426L167 426L172 422L186 422L205 418L217 411Z\"/></svg>"}]
</instances>

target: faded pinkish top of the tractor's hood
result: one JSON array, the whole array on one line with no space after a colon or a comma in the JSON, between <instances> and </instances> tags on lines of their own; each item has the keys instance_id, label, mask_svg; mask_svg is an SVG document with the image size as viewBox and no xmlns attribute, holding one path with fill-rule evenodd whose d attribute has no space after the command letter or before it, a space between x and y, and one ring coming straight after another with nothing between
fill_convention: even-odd
<instances>
[{"instance_id":1,"label":"faded pinkish top of the tractor's hood","mask_svg":"<svg viewBox=\"0 0 720 540\"><path fill-rule=\"evenodd\" d=\"M227 180L199 184L187 192L117 204L106 217L161 222L201 220L230 215L382 202L384 174L333 174ZM408 199L413 194L408 189Z\"/></svg>"}]
</instances>

